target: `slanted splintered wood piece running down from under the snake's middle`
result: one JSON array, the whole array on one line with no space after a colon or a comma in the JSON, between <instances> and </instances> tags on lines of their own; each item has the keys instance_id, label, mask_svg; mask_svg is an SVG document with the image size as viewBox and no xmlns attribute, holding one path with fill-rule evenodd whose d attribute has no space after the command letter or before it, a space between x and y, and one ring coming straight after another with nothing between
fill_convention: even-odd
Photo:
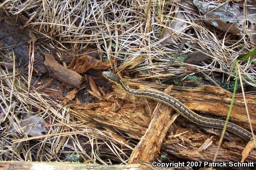
<instances>
[{"instance_id":1,"label":"slanted splintered wood piece running down from under the snake's middle","mask_svg":"<svg viewBox=\"0 0 256 170\"><path fill-rule=\"evenodd\" d=\"M171 91L171 86L165 90L165 93ZM139 163L139 161L153 161L159 153L162 141L171 123L171 112L173 110L165 104L158 103L154 109L153 118L147 128L146 133L141 137L139 143L132 151L129 164ZM176 117L175 117L176 118ZM173 118L175 120L175 118Z\"/></svg>"}]
</instances>

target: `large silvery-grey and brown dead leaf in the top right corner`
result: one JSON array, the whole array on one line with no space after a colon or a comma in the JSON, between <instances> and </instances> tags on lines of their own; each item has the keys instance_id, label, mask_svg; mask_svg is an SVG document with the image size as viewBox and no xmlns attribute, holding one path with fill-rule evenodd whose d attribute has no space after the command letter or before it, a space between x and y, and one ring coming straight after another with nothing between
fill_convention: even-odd
<instances>
[{"instance_id":1,"label":"large silvery-grey and brown dead leaf in the top right corner","mask_svg":"<svg viewBox=\"0 0 256 170\"><path fill-rule=\"evenodd\" d=\"M247 3L246 6L246 21L244 19L244 4L232 3L231 7L227 4L212 4L208 2L202 2L199 0L193 0L196 7L203 13L201 15L203 21L208 25L215 26L218 30L223 32L229 32L233 34L248 35L249 40L252 43L256 43L256 28L255 28L255 5L254 3ZM247 25L243 26L243 23Z\"/></svg>"}]
</instances>

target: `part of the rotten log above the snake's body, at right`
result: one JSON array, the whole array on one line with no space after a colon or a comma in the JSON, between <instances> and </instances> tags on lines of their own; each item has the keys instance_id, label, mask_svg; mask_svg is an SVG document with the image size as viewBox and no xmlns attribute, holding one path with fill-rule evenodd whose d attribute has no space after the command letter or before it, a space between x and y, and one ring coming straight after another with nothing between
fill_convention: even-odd
<instances>
[{"instance_id":1,"label":"part of the rotten log above the snake's body, at right","mask_svg":"<svg viewBox=\"0 0 256 170\"><path fill-rule=\"evenodd\" d=\"M151 83L152 84L152 83ZM134 85L134 82L128 82L128 85ZM140 84L138 84L140 85ZM154 86L154 89L163 90L167 86ZM144 89L148 89L144 88ZM214 115L224 117L228 113L232 93L217 86L204 85L199 88L187 88L173 86L172 91L169 92L177 100L180 100L188 108L198 113L212 113ZM256 97L255 95L245 95L248 106L248 111L252 121L253 130L256 132ZM245 110L245 103L242 94L236 94L233 103L232 112L230 115L231 120L240 126L250 129L247 113Z\"/></svg>"}]
</instances>

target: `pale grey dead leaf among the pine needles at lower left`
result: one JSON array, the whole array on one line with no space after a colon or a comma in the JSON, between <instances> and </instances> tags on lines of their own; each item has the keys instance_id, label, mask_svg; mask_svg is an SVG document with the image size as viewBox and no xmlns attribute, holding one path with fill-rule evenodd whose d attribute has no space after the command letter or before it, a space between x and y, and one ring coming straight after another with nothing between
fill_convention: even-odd
<instances>
[{"instance_id":1,"label":"pale grey dead leaf among the pine needles at lower left","mask_svg":"<svg viewBox=\"0 0 256 170\"><path fill-rule=\"evenodd\" d=\"M26 114L20 126L22 127L23 133L32 137L48 133L45 120L36 114Z\"/></svg>"}]
</instances>

